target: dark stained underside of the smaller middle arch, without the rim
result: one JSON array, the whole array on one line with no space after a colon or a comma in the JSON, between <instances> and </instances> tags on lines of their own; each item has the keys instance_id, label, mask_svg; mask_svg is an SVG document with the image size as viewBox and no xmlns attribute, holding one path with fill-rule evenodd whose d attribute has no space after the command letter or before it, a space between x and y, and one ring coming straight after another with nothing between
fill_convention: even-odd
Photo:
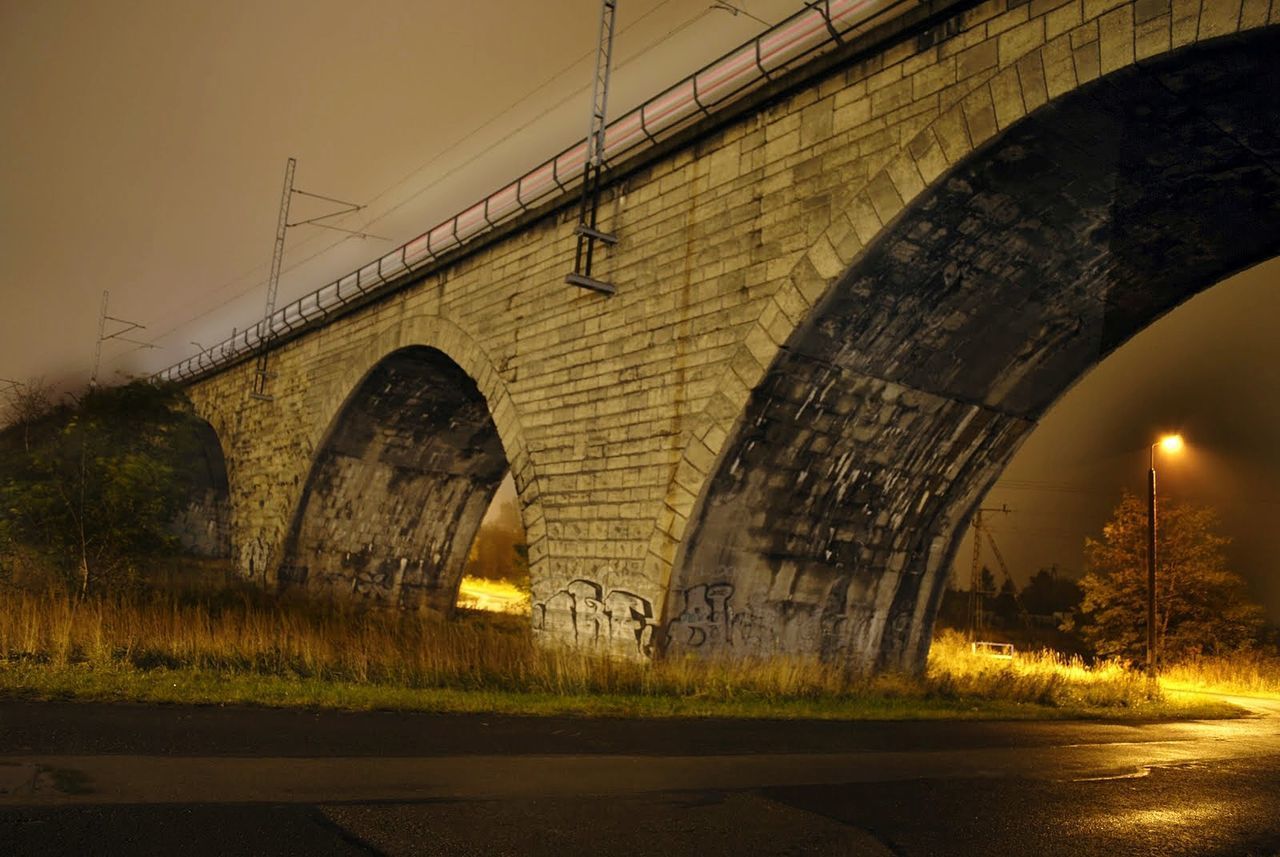
<instances>
[{"instance_id":1,"label":"dark stained underside of the smaller middle arch, without the rim","mask_svg":"<svg viewBox=\"0 0 1280 857\"><path fill-rule=\"evenodd\" d=\"M320 448L279 586L448 614L507 472L484 395L443 352L383 358Z\"/></svg>"}]
</instances>

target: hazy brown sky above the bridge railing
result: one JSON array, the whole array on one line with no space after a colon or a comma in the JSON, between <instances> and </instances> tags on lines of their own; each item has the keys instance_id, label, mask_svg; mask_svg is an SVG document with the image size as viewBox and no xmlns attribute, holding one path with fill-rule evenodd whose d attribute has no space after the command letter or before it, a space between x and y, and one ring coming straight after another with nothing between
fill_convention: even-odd
<instances>
[{"instance_id":1,"label":"hazy brown sky above the bridge railing","mask_svg":"<svg viewBox=\"0 0 1280 857\"><path fill-rule=\"evenodd\" d=\"M289 230L282 304L498 189L585 136L598 24L598 0L0 0L0 377L86 380L102 289L159 345L109 345L108 379L255 322L289 156L390 240ZM623 0L611 114L762 29Z\"/></svg>"}]
</instances>

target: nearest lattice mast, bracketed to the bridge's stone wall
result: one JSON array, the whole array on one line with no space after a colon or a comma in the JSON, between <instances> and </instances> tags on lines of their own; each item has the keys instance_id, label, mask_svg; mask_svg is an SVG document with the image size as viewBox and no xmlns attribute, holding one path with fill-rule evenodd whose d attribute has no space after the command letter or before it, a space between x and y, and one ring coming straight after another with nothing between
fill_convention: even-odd
<instances>
[{"instance_id":1,"label":"nearest lattice mast, bracketed to the bridge's stone wall","mask_svg":"<svg viewBox=\"0 0 1280 857\"><path fill-rule=\"evenodd\" d=\"M595 255L595 242L618 243L617 235L596 229L600 210L600 173L604 169L604 127L609 100L609 58L613 52L613 19L617 17L618 0L600 1L600 35L595 51L595 77L591 81L591 122L586 129L586 152L582 159L582 202L579 208L577 252L573 256L573 272L564 281L584 289L599 292L609 297L617 289L591 276L591 260Z\"/></svg>"}]
</instances>

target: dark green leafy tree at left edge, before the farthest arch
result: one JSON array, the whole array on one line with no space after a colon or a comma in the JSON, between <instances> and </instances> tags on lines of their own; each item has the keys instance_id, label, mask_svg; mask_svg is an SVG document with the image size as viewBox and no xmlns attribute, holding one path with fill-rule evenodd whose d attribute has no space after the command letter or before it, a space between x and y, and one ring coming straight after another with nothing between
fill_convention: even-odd
<instances>
[{"instance_id":1,"label":"dark green leafy tree at left edge, before the farthest arch","mask_svg":"<svg viewBox=\"0 0 1280 857\"><path fill-rule=\"evenodd\" d=\"M179 388L133 381L0 431L0 544L24 545L81 596L169 551L196 418Z\"/></svg>"}]
</instances>

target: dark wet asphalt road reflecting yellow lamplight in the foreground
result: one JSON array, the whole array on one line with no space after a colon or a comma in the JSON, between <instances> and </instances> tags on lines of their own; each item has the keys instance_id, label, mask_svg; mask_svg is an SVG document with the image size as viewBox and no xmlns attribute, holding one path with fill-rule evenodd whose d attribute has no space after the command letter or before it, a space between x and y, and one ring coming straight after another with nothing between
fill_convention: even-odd
<instances>
[{"instance_id":1,"label":"dark wet asphalt road reflecting yellow lamplight in the foreground","mask_svg":"<svg viewBox=\"0 0 1280 857\"><path fill-rule=\"evenodd\" d=\"M796 723L0 702L0 854L1280 854L1242 720Z\"/></svg>"}]
</instances>

